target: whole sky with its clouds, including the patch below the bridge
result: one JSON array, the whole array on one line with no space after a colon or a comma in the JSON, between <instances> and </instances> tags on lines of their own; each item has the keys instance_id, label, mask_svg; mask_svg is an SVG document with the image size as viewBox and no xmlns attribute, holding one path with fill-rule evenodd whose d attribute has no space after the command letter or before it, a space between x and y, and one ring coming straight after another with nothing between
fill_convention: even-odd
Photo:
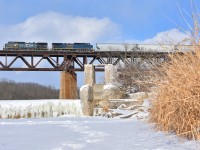
<instances>
[{"instance_id":1,"label":"whole sky with its clouds, including the patch below the bridge","mask_svg":"<svg viewBox=\"0 0 200 150\"><path fill-rule=\"evenodd\" d=\"M191 22L191 0L0 0L0 47L9 40L155 43L166 35L182 40L189 28L179 7ZM58 72L0 72L0 78L59 87Z\"/></svg>"}]
</instances>

